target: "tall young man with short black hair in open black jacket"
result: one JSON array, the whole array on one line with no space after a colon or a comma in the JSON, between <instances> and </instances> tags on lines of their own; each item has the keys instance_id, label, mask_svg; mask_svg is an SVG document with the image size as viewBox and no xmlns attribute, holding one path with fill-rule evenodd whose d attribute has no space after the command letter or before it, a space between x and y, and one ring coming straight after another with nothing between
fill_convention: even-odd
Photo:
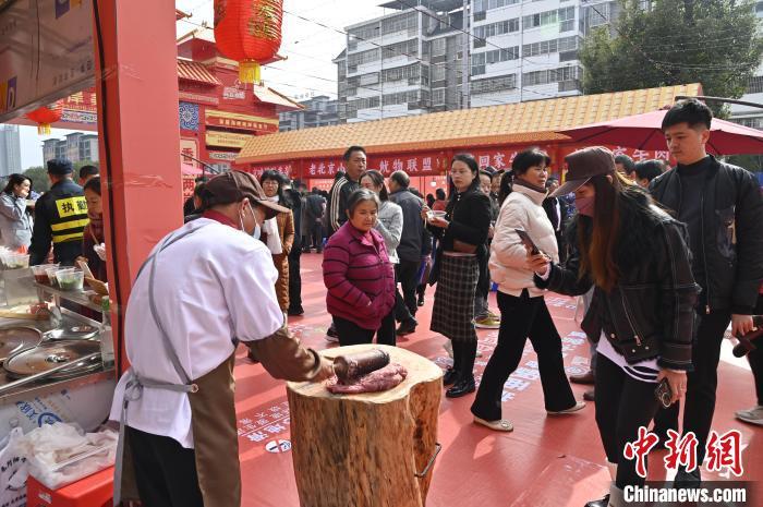
<instances>
[{"instance_id":1,"label":"tall young man with short black hair in open black jacket","mask_svg":"<svg viewBox=\"0 0 763 507\"><path fill-rule=\"evenodd\" d=\"M729 322L734 335L752 330L763 280L763 200L758 181L744 169L706 154L712 118L707 106L695 99L681 100L665 114L663 133L678 167L650 185L654 198L687 224L692 271L702 287L694 371L689 373L683 411L683 433L693 432L699 439L698 463L705 457L713 422L724 333ZM656 426L675 427L677 418L674 405L658 414ZM700 481L700 467L692 472L679 469L676 475L678 485Z\"/></svg>"}]
</instances>

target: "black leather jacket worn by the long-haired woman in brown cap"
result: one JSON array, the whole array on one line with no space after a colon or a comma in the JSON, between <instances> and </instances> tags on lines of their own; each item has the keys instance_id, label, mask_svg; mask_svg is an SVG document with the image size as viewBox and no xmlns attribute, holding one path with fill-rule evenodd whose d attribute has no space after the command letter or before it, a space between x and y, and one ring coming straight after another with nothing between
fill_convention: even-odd
<instances>
[{"instance_id":1,"label":"black leather jacket worn by the long-haired woman in brown cap","mask_svg":"<svg viewBox=\"0 0 763 507\"><path fill-rule=\"evenodd\" d=\"M663 367L691 370L699 287L691 274L686 226L650 205L637 190L622 194L620 219L615 255L619 280L609 292L594 288L581 328L594 341L604 333L629 363L657 358ZM591 220L577 217L570 234L579 227L590 230ZM571 236L566 267L553 265L547 280L536 276L537 287L567 295L589 291L593 281L579 274L576 238Z\"/></svg>"}]
</instances>

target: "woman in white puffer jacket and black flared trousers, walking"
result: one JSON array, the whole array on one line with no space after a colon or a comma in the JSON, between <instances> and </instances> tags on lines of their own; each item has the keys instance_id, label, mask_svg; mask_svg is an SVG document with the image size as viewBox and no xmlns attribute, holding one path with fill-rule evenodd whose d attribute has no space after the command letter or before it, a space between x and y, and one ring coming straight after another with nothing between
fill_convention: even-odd
<instances>
[{"instance_id":1,"label":"woman in white puffer jacket and black flared trousers, walking","mask_svg":"<svg viewBox=\"0 0 763 507\"><path fill-rule=\"evenodd\" d=\"M516 232L525 231L538 250L558 262L554 227L543 209L549 164L548 155L536 148L514 158L513 191L501 205L495 227L489 268L498 283L500 330L472 405L474 422L492 430L512 430L511 423L501 419L501 395L504 384L519 366L528 338L537 353L546 411L570 413L585 406L574 400L565 374L561 337L543 299L544 291L535 287L528 251Z\"/></svg>"}]
</instances>

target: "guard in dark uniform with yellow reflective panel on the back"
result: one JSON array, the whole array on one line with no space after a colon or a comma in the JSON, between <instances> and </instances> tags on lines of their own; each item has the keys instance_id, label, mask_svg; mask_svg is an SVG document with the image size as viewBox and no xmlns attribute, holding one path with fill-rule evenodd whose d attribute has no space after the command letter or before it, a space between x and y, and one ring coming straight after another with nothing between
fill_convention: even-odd
<instances>
[{"instance_id":1,"label":"guard in dark uniform with yellow reflective panel on the back","mask_svg":"<svg viewBox=\"0 0 763 507\"><path fill-rule=\"evenodd\" d=\"M29 245L29 264L48 262L50 243L57 263L73 266L82 255L82 238L87 219L87 202L82 186L72 181L72 162L48 160L50 191L35 205L35 227Z\"/></svg>"}]
</instances>

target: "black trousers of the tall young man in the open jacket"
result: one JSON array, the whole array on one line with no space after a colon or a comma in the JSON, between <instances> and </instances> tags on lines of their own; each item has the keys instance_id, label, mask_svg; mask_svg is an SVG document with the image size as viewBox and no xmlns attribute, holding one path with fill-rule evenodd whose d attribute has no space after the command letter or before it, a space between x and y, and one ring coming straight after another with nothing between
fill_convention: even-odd
<instances>
[{"instance_id":1,"label":"black trousers of the tall young man in the open jacket","mask_svg":"<svg viewBox=\"0 0 763 507\"><path fill-rule=\"evenodd\" d=\"M713 424L720 343L731 322L731 314L727 310L720 310L700 317L700 327L692 348L694 371L687 375L686 407L683 408L683 434L694 432L697 435L698 463L704 460L705 445ZM667 430L678 431L678 410L679 403L674 403L669 409L661 409L654 419L655 431L661 434L666 434Z\"/></svg>"}]
</instances>

